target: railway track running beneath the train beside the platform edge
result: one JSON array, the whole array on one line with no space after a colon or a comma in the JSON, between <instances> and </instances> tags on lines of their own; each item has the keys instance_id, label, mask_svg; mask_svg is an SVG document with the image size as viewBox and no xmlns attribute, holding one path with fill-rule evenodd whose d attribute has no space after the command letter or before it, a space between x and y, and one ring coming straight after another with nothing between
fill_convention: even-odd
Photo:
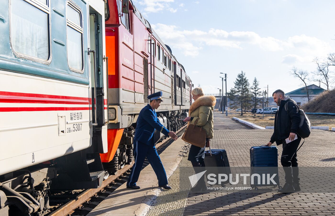
<instances>
[{"instance_id":1,"label":"railway track running beneath the train beside the platform edge","mask_svg":"<svg viewBox=\"0 0 335 216\"><path fill-rule=\"evenodd\" d=\"M186 126L177 131L178 137L184 133L185 127ZM173 143L173 141L174 140L170 138L156 144L158 154L163 152L169 145ZM118 170L115 175L110 175L103 181L102 186L99 188L75 190L63 194L60 192L58 199L60 199L60 203L63 204L58 204L58 206L55 205L53 208L54 210L48 213L47 216L87 215L115 189L127 181L133 163L134 161L132 161L131 164L125 165L122 169ZM147 165L149 165L149 162L146 159L142 169ZM53 195L53 197L57 197L57 195ZM64 200L67 199L69 201L64 202Z\"/></svg>"}]
</instances>

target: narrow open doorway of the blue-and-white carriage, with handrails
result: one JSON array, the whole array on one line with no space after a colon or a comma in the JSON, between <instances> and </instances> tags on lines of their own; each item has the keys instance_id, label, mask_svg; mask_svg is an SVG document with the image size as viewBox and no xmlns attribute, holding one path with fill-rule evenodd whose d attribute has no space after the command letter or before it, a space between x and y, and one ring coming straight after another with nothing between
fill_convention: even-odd
<instances>
[{"instance_id":1,"label":"narrow open doorway of the blue-and-white carriage, with handrails","mask_svg":"<svg viewBox=\"0 0 335 216\"><path fill-rule=\"evenodd\" d=\"M104 99L104 56L103 56L103 16L89 7L89 56L92 104L92 144L93 152L104 153L103 127L105 122Z\"/></svg>"}]
</instances>

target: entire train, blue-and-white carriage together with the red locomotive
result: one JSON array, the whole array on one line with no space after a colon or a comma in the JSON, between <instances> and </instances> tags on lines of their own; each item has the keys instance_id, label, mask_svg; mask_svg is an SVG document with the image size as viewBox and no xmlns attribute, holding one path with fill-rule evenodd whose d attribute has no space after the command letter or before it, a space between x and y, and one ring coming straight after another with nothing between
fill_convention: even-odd
<instances>
[{"instance_id":1,"label":"entire train, blue-and-white carriage together with the red locomotive","mask_svg":"<svg viewBox=\"0 0 335 216\"><path fill-rule=\"evenodd\" d=\"M44 215L49 189L97 188L131 163L148 94L183 126L192 82L131 1L8 0L0 14L0 214Z\"/></svg>"}]
</instances>

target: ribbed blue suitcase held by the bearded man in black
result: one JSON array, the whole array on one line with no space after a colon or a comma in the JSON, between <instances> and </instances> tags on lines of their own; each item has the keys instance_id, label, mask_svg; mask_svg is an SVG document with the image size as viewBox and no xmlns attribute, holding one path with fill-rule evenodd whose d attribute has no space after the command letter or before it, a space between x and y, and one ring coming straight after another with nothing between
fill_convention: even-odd
<instances>
[{"instance_id":1,"label":"ribbed blue suitcase held by the bearded man in black","mask_svg":"<svg viewBox=\"0 0 335 216\"><path fill-rule=\"evenodd\" d=\"M279 186L278 148L276 146L253 146L250 148L250 178L255 173L259 174L261 178L263 177L262 174L270 174L270 176L276 174L273 180L277 183L273 184L266 179L266 184L264 184L264 179L262 178L261 184L258 181L251 184L251 187L254 187L256 191L260 186L278 186L278 188L281 188Z\"/></svg>"}]
</instances>

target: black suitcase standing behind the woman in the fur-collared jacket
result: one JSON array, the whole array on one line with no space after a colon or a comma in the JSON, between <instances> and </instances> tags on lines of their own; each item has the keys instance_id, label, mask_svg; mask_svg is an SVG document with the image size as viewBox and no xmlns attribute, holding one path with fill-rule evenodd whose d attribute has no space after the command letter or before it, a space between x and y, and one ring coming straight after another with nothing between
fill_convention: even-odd
<instances>
[{"instance_id":1,"label":"black suitcase standing behind the woman in the fur-collared jacket","mask_svg":"<svg viewBox=\"0 0 335 216\"><path fill-rule=\"evenodd\" d=\"M211 151L211 152L210 152ZM218 173L225 173L229 176L231 173L227 152L224 149L210 149L205 151L205 158L204 162L206 165L206 169L208 170L207 173L214 173L218 176ZM218 167L222 167L219 168ZM219 171L220 170L220 171ZM229 181L223 182L221 185L225 185L229 183Z\"/></svg>"}]
</instances>

